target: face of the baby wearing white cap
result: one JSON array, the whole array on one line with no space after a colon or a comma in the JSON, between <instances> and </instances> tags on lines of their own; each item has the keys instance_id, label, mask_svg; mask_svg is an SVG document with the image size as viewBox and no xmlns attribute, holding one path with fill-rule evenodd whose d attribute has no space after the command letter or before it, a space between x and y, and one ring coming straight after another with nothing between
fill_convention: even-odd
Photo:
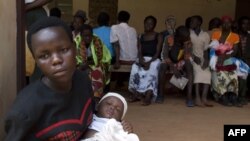
<instances>
[{"instance_id":1,"label":"face of the baby wearing white cap","mask_svg":"<svg viewBox=\"0 0 250 141\"><path fill-rule=\"evenodd\" d=\"M120 99L110 96L105 98L98 105L98 117L102 118L114 118L117 121L121 121L124 106Z\"/></svg>"}]
</instances>

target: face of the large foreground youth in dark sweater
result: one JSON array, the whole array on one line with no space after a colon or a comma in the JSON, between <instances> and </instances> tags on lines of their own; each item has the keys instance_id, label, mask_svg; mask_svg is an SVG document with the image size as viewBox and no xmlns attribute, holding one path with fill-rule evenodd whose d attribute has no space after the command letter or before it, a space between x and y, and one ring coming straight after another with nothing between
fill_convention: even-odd
<instances>
[{"instance_id":1,"label":"face of the large foreground youth in dark sweater","mask_svg":"<svg viewBox=\"0 0 250 141\"><path fill-rule=\"evenodd\" d=\"M48 27L31 37L38 67L51 83L68 84L75 71L75 46L62 27Z\"/></svg>"}]
</instances>

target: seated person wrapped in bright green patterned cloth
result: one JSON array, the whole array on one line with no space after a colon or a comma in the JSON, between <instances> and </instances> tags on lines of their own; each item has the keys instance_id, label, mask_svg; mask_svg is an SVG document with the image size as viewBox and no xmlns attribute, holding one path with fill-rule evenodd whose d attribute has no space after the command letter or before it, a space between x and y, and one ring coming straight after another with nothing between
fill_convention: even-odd
<instances>
[{"instance_id":1,"label":"seated person wrapped in bright green patterned cloth","mask_svg":"<svg viewBox=\"0 0 250 141\"><path fill-rule=\"evenodd\" d=\"M81 27L81 42L77 43L77 65L81 70L89 69L96 100L103 95L110 82L111 55L107 47L95 35L90 25Z\"/></svg>"}]
</instances>

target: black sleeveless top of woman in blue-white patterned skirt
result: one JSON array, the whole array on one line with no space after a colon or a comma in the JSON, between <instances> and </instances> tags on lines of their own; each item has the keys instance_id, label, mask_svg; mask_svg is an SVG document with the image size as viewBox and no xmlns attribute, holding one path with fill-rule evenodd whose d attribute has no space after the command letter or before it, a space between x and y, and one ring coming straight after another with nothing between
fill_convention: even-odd
<instances>
[{"instance_id":1,"label":"black sleeveless top of woman in blue-white patterned skirt","mask_svg":"<svg viewBox=\"0 0 250 141\"><path fill-rule=\"evenodd\" d=\"M142 35L140 42L141 42L142 56L153 57L156 54L158 34L155 34L155 38L153 40L148 40L148 41L146 41L144 39L144 35Z\"/></svg>"}]
</instances>

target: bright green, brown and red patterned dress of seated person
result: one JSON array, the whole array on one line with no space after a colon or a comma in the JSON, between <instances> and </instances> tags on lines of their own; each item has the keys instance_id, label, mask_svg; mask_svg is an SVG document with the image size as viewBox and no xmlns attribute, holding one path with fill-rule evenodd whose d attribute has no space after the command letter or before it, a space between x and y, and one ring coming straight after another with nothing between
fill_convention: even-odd
<instances>
[{"instance_id":1,"label":"bright green, brown and red patterned dress of seated person","mask_svg":"<svg viewBox=\"0 0 250 141\"><path fill-rule=\"evenodd\" d=\"M110 82L111 54L108 48L95 35L93 35L89 47L86 47L81 39L76 38L75 41L77 46L77 64L93 62L93 64L88 65L89 77L92 81L94 96L101 98L104 87Z\"/></svg>"}]
</instances>

